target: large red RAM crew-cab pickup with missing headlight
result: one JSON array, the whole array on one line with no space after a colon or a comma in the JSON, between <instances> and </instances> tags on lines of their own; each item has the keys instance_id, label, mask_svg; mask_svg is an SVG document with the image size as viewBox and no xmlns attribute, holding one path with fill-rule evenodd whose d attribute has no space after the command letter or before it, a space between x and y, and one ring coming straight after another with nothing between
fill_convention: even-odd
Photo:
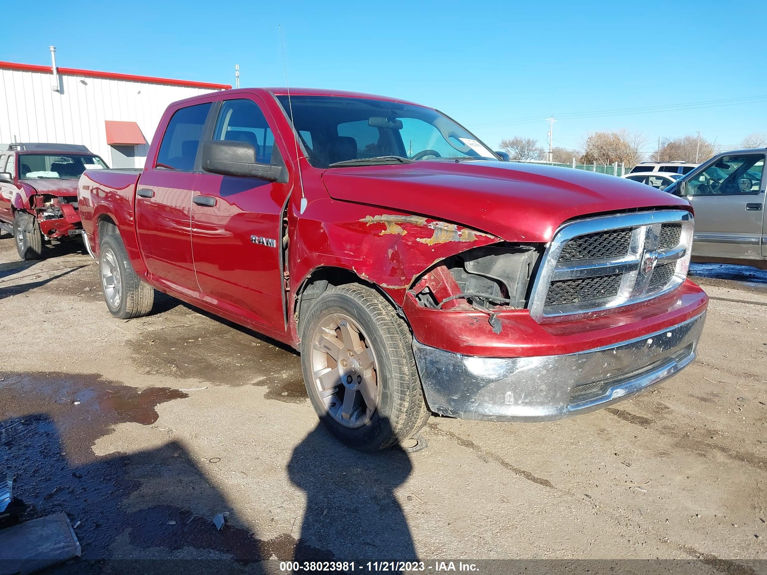
<instances>
[{"instance_id":1,"label":"large red RAM crew-cab pickup with missing headlight","mask_svg":"<svg viewBox=\"0 0 767 575\"><path fill-rule=\"evenodd\" d=\"M116 317L153 290L288 343L347 445L431 413L558 419L696 355L690 204L499 161L443 113L330 90L172 104L145 168L87 170L87 241Z\"/></svg>"}]
</instances>

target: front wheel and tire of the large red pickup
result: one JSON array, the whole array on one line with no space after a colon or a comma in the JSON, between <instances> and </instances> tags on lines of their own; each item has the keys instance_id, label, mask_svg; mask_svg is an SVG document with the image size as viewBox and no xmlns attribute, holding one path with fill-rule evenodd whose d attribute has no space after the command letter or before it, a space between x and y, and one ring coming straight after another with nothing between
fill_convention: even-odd
<instances>
[{"instance_id":1,"label":"front wheel and tire of the large red pickup","mask_svg":"<svg viewBox=\"0 0 767 575\"><path fill-rule=\"evenodd\" d=\"M372 452L425 425L410 330L377 291L359 284L331 288L301 327L309 399L341 442Z\"/></svg>"}]
</instances>

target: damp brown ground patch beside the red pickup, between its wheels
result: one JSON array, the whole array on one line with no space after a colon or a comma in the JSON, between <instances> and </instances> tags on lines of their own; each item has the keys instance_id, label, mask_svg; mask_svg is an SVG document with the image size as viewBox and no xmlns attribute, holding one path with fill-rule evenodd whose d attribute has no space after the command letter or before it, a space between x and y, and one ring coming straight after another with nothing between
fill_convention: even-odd
<instances>
[{"instance_id":1,"label":"damp brown ground patch beside the red pickup, between its wheels","mask_svg":"<svg viewBox=\"0 0 767 575\"><path fill-rule=\"evenodd\" d=\"M129 340L132 360L147 375L199 379L212 385L265 386L265 397L289 403L306 399L301 358L295 350L255 331L179 307L173 324L144 330Z\"/></svg>"}]
</instances>

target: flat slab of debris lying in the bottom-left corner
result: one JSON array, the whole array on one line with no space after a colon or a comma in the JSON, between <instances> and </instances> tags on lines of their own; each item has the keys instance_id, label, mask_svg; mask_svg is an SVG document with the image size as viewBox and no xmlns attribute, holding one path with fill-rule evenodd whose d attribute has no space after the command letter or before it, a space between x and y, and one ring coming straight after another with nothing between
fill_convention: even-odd
<instances>
[{"instance_id":1,"label":"flat slab of debris lying in the bottom-left corner","mask_svg":"<svg viewBox=\"0 0 767 575\"><path fill-rule=\"evenodd\" d=\"M0 575L32 573L80 557L66 513L25 521L0 531Z\"/></svg>"}]
</instances>

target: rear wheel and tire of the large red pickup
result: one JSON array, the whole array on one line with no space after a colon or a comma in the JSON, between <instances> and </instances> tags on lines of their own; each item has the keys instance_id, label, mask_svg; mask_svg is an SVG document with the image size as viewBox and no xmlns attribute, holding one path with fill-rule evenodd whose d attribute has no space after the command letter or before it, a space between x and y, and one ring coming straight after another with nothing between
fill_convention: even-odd
<instances>
[{"instance_id":1,"label":"rear wheel and tire of the large red pickup","mask_svg":"<svg viewBox=\"0 0 767 575\"><path fill-rule=\"evenodd\" d=\"M114 317L128 320L152 311L154 288L140 280L117 234L107 235L100 243L99 276L107 309Z\"/></svg>"}]
</instances>

